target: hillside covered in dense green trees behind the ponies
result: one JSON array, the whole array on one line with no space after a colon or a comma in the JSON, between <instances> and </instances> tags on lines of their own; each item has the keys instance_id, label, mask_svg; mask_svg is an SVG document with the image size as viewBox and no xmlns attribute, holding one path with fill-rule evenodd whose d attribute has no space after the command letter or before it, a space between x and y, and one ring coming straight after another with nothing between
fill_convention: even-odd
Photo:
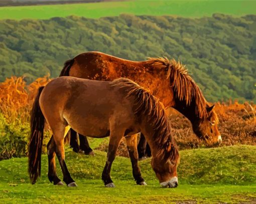
<instances>
[{"instance_id":1,"label":"hillside covered in dense green trees behind the ponies","mask_svg":"<svg viewBox=\"0 0 256 204\"><path fill-rule=\"evenodd\" d=\"M209 101L256 102L256 16L120 15L0 21L0 81L57 77L64 61L86 51L130 60L167 56L186 64Z\"/></svg>"}]
</instances>

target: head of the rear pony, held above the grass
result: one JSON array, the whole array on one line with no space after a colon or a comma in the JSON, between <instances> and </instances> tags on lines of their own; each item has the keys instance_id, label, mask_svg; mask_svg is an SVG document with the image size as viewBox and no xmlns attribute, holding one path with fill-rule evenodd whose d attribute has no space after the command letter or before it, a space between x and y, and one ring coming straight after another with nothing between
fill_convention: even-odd
<instances>
[{"instance_id":1,"label":"head of the rear pony, held above the grass","mask_svg":"<svg viewBox=\"0 0 256 204\"><path fill-rule=\"evenodd\" d=\"M213 106L206 107L207 116L197 118L192 122L194 133L206 143L221 143L221 135L218 130L218 117Z\"/></svg>"}]
</instances>

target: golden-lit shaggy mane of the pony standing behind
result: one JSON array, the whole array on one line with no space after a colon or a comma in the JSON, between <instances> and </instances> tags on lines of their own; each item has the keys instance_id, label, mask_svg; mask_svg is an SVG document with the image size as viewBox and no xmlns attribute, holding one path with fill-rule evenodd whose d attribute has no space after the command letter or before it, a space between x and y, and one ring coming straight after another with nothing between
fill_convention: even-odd
<instances>
[{"instance_id":1,"label":"golden-lit shaggy mane of the pony standing behind","mask_svg":"<svg viewBox=\"0 0 256 204\"><path fill-rule=\"evenodd\" d=\"M149 58L147 63L152 67L162 68L167 72L167 78L170 78L171 86L180 101L185 101L187 106L189 106L193 100L195 101L195 113L199 118L206 119L208 117L206 107L209 106L209 103L204 98L199 86L188 74L185 65L182 65L174 59L169 60L166 57ZM212 113L212 117L218 121L215 112Z\"/></svg>"}]
</instances>

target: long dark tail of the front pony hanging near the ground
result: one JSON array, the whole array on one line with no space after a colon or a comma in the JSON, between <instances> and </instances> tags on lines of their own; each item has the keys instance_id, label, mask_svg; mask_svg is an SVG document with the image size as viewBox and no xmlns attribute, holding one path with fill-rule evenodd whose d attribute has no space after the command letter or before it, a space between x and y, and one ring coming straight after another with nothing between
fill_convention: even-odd
<instances>
[{"instance_id":1,"label":"long dark tail of the front pony hanging near the ground","mask_svg":"<svg viewBox=\"0 0 256 204\"><path fill-rule=\"evenodd\" d=\"M30 141L29 141L29 176L31 183L34 184L37 177L41 175L41 153L44 138L45 117L39 106L39 97L44 86L38 89L30 119Z\"/></svg>"}]
</instances>

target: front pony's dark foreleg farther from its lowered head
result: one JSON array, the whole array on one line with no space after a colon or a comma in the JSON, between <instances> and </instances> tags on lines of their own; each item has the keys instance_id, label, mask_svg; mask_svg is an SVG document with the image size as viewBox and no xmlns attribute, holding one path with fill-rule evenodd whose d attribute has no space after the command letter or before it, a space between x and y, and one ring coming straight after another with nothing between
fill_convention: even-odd
<instances>
[{"instance_id":1,"label":"front pony's dark foreleg farther from its lowered head","mask_svg":"<svg viewBox=\"0 0 256 204\"><path fill-rule=\"evenodd\" d=\"M105 167L102 172L102 180L106 187L115 187L111 177L110 177L110 170L112 162L115 158L117 148L119 146L119 143L122 138L122 134L120 133L111 133L110 131L110 138L109 138L109 144L108 144L108 151L107 151L107 161L105 164Z\"/></svg>"}]
</instances>

